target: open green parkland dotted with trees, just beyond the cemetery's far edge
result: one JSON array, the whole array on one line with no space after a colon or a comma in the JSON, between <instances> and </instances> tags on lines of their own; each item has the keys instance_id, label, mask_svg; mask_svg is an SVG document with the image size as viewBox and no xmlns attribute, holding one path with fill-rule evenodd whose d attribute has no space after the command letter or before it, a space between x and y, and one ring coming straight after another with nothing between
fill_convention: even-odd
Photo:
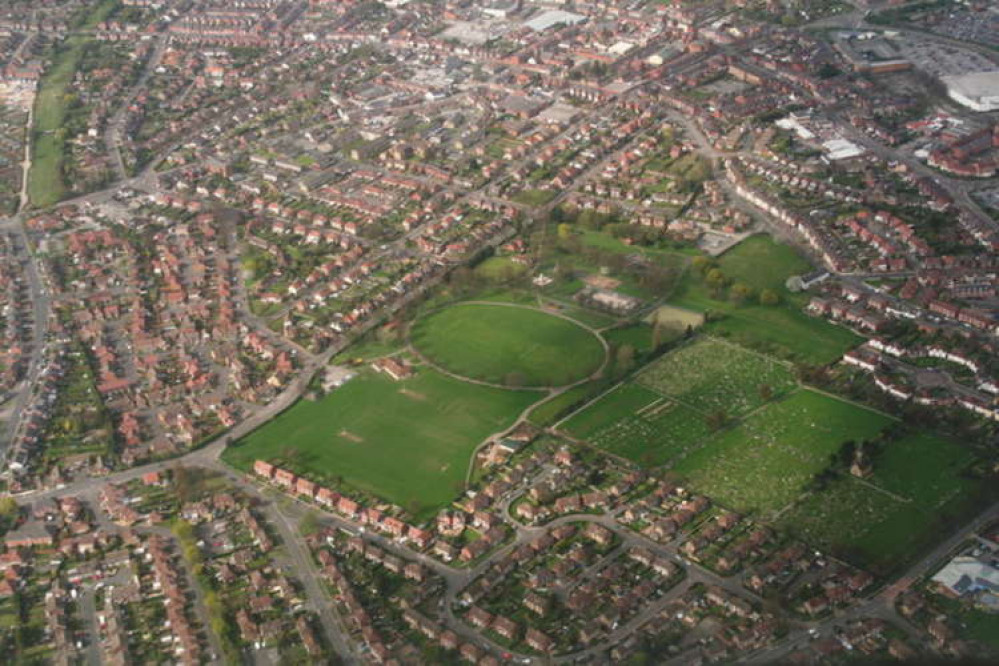
<instances>
[{"instance_id":1,"label":"open green parkland dotted with trees, just beyond the cemetery's far edge","mask_svg":"<svg viewBox=\"0 0 999 666\"><path fill-rule=\"evenodd\" d=\"M784 288L784 281L810 270L791 248L768 236L753 236L718 258L718 268L729 279L756 290L773 289L781 298L774 306L737 305L725 294L712 297L696 271L684 276L670 303L697 312L723 315L705 330L735 342L777 353L793 360L824 365L837 360L861 339L850 331L822 319L809 317L801 308L804 297Z\"/></svg>"}]
</instances>

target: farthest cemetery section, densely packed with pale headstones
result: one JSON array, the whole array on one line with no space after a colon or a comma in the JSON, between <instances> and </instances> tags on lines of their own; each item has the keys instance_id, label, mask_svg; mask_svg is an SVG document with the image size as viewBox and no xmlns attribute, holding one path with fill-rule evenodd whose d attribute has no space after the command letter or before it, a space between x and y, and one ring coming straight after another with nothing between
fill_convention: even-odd
<instances>
[{"instance_id":1,"label":"farthest cemetery section, densely packed with pale headstones","mask_svg":"<svg viewBox=\"0 0 999 666\"><path fill-rule=\"evenodd\" d=\"M666 354L637 377L639 384L702 413L745 414L794 390L784 363L722 340L700 339Z\"/></svg>"}]
</instances>

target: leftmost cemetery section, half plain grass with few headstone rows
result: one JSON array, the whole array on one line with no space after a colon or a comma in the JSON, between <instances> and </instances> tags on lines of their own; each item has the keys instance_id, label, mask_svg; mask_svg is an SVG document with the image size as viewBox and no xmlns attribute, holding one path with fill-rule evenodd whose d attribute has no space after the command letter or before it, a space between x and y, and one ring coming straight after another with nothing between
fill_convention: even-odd
<instances>
[{"instance_id":1,"label":"leftmost cemetery section, half plain grass with few headstone rows","mask_svg":"<svg viewBox=\"0 0 999 666\"><path fill-rule=\"evenodd\" d=\"M704 415L633 383L574 414L562 429L648 467L670 462L709 434Z\"/></svg>"}]
</instances>

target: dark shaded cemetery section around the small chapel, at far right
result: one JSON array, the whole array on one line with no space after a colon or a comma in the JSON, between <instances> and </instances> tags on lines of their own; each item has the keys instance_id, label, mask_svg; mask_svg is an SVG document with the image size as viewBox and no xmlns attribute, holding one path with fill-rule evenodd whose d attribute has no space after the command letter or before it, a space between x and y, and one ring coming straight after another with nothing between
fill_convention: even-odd
<instances>
[{"instance_id":1,"label":"dark shaded cemetery section around the small chapel, at far right","mask_svg":"<svg viewBox=\"0 0 999 666\"><path fill-rule=\"evenodd\" d=\"M980 482L974 457L954 442L913 434L890 442L867 479L840 475L805 497L780 526L811 543L887 573L961 522Z\"/></svg>"}]
</instances>

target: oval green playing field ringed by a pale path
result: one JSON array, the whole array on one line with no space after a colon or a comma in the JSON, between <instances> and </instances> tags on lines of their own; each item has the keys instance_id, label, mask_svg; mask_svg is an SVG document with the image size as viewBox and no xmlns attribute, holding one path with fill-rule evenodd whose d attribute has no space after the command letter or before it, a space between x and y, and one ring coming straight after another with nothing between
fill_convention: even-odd
<instances>
[{"instance_id":1,"label":"oval green playing field ringed by a pale path","mask_svg":"<svg viewBox=\"0 0 999 666\"><path fill-rule=\"evenodd\" d=\"M604 359L585 328L540 310L464 303L417 321L413 345L440 367L495 384L562 386Z\"/></svg>"}]
</instances>

